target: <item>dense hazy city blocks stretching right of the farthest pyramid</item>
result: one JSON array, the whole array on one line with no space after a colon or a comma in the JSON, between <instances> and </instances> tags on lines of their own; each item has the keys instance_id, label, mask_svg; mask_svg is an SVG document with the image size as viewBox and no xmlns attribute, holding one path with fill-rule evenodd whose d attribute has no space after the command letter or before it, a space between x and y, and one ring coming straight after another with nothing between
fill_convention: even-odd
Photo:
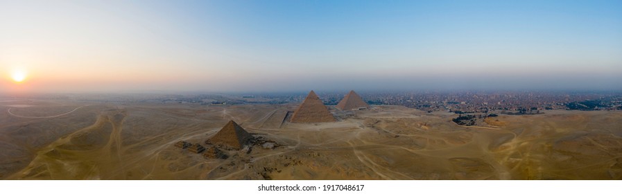
<instances>
[{"instance_id":1,"label":"dense hazy city blocks stretching right of the farthest pyramid","mask_svg":"<svg viewBox=\"0 0 622 194\"><path fill-rule=\"evenodd\" d=\"M367 94L372 104L404 105L425 111L487 112L506 110L527 112L542 109L620 109L622 95L597 92L545 91L463 91Z\"/></svg>"}]
</instances>

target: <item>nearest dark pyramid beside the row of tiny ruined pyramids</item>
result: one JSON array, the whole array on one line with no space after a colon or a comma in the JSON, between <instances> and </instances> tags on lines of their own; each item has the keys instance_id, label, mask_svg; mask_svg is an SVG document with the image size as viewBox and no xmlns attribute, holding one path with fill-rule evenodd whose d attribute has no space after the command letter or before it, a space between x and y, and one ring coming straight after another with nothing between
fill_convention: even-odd
<instances>
[{"instance_id":1,"label":"nearest dark pyramid beside the row of tiny ruined pyramids","mask_svg":"<svg viewBox=\"0 0 622 194\"><path fill-rule=\"evenodd\" d=\"M221 131L209 139L209 143L226 145L239 150L251 139L252 135L240 127L238 123L229 121Z\"/></svg>"}]
</instances>

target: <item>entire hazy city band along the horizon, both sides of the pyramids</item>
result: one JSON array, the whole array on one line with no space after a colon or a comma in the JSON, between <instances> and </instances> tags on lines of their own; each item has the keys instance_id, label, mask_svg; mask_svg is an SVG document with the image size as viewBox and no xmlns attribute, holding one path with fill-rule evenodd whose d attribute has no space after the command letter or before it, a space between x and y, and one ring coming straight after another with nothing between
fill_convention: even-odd
<instances>
[{"instance_id":1,"label":"entire hazy city band along the horizon, both sides of the pyramids","mask_svg":"<svg viewBox=\"0 0 622 194\"><path fill-rule=\"evenodd\" d=\"M361 92L370 105L402 105L427 112L456 113L516 112L535 113L544 109L614 110L622 109L621 92L563 91L395 91ZM345 93L318 92L325 105L336 105ZM104 103L184 103L191 105L242 105L299 103L304 93L275 94L37 94L4 98L33 100L78 100Z\"/></svg>"}]
</instances>

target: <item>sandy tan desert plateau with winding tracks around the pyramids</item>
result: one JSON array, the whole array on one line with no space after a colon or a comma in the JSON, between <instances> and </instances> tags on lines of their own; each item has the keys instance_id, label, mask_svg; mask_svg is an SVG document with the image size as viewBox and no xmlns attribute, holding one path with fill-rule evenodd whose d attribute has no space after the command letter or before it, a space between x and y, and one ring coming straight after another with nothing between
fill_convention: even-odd
<instances>
[{"instance_id":1,"label":"sandy tan desert plateau with winding tracks around the pyramids","mask_svg":"<svg viewBox=\"0 0 622 194\"><path fill-rule=\"evenodd\" d=\"M622 179L622 112L456 114L399 106L283 122L297 105L0 103L0 179ZM272 146L206 159L228 121Z\"/></svg>"}]
</instances>

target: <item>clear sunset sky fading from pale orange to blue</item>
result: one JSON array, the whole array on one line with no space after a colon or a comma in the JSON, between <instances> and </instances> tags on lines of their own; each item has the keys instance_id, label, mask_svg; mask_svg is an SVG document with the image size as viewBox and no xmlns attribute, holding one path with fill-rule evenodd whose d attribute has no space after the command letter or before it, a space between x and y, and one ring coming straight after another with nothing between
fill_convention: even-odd
<instances>
[{"instance_id":1,"label":"clear sunset sky fading from pale orange to blue","mask_svg":"<svg viewBox=\"0 0 622 194\"><path fill-rule=\"evenodd\" d=\"M620 90L621 75L619 0L0 1L0 91Z\"/></svg>"}]
</instances>

